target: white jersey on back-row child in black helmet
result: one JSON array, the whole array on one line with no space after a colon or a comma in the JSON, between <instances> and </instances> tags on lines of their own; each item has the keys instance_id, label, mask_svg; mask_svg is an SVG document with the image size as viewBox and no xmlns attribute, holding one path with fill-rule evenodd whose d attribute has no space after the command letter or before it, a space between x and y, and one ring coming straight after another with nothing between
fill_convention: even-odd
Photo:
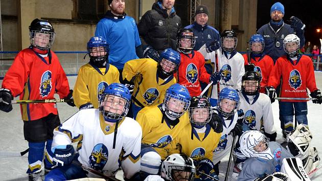
<instances>
[{"instance_id":1,"label":"white jersey on back-row child in black helmet","mask_svg":"<svg viewBox=\"0 0 322 181\"><path fill-rule=\"evenodd\" d=\"M216 63L216 51L211 53L211 61L215 64L215 71L217 70ZM229 58L227 54L224 53L221 48L217 50L218 52L218 71L221 72L221 79L219 83L219 89L222 90L225 87L234 88L236 90L241 89L241 79L245 74L244 69L244 58L238 53L234 52ZM211 98L218 99L217 86L214 85L212 88ZM219 90L219 91L220 91Z\"/></svg>"}]
</instances>

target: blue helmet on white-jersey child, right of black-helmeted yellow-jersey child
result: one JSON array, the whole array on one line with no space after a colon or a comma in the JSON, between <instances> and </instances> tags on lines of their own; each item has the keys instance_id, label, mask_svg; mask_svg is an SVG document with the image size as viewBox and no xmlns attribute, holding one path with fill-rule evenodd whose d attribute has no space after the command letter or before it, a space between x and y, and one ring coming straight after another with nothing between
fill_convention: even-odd
<instances>
[{"instance_id":1,"label":"blue helmet on white-jersey child, right of black-helmeted yellow-jersey child","mask_svg":"<svg viewBox=\"0 0 322 181\"><path fill-rule=\"evenodd\" d=\"M217 110L222 116L229 117L236 113L239 103L237 90L225 87L219 93Z\"/></svg>"}]
</instances>

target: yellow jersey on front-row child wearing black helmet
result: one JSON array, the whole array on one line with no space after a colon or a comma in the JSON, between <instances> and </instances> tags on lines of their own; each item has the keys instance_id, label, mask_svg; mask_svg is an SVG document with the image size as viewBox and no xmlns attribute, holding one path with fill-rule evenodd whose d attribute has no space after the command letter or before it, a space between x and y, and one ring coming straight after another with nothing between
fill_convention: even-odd
<instances>
[{"instance_id":1,"label":"yellow jersey on front-row child wearing black helmet","mask_svg":"<svg viewBox=\"0 0 322 181\"><path fill-rule=\"evenodd\" d=\"M191 124L182 129L172 145L176 145L173 153L185 153L194 161L201 159L213 159L213 151L217 147L221 133L215 132L209 124L206 124L204 132L197 132Z\"/></svg>"}]
</instances>

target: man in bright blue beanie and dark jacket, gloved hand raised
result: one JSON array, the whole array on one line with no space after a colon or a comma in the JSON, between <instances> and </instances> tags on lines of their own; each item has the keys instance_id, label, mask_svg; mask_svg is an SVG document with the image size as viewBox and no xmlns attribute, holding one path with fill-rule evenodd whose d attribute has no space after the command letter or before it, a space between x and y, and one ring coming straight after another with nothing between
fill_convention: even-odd
<instances>
[{"instance_id":1,"label":"man in bright blue beanie and dark jacket, gloved hand raised","mask_svg":"<svg viewBox=\"0 0 322 181\"><path fill-rule=\"evenodd\" d=\"M305 43L305 25L301 19L292 16L290 18L291 24L288 25L283 21L284 14L284 6L280 2L273 4L270 8L271 20L258 30L258 34L261 34L265 39L264 53L269 55L274 62L279 57L286 55L283 48L283 40L287 35L296 34L301 39L300 48Z\"/></svg>"}]
</instances>

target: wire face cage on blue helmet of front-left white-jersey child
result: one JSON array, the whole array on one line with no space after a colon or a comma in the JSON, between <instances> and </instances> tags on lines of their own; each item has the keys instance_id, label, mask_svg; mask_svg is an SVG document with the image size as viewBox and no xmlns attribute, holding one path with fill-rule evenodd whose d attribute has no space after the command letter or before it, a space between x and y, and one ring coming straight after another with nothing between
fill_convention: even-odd
<instances>
[{"instance_id":1,"label":"wire face cage on blue helmet of front-left white-jersey child","mask_svg":"<svg viewBox=\"0 0 322 181\"><path fill-rule=\"evenodd\" d=\"M99 102L100 112L105 120L118 121L127 115L130 101L118 95L103 94Z\"/></svg>"}]
</instances>

